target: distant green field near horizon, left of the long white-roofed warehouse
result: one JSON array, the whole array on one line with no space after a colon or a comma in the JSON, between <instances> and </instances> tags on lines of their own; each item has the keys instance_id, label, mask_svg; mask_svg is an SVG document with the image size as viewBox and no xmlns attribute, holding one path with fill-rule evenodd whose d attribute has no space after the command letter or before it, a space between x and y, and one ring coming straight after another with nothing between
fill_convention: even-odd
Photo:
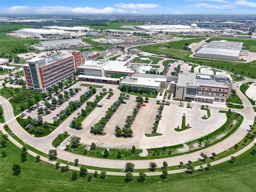
<instances>
[{"instance_id":1,"label":"distant green field near horizon, left of the long white-roofed warehouse","mask_svg":"<svg viewBox=\"0 0 256 192\"><path fill-rule=\"evenodd\" d=\"M102 26L89 26L91 29L118 29L118 30L134 30L132 28L126 28L122 26L134 26L134 25L143 25L142 21L112 21Z\"/></svg>"}]
</instances>

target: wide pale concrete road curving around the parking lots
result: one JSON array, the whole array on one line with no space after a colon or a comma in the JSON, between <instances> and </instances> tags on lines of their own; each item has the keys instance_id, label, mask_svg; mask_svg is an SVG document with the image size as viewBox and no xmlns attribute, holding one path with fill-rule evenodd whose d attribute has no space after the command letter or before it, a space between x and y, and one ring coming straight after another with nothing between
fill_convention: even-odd
<instances>
[{"instance_id":1,"label":"wide pale concrete road curving around the parking lots","mask_svg":"<svg viewBox=\"0 0 256 192\"><path fill-rule=\"evenodd\" d=\"M242 83L245 83L249 81L246 79L243 82L235 83L234 87L237 85L241 85ZM111 86L111 85L106 85ZM114 92L118 92L116 90L115 86L112 86L114 89ZM211 146L206 149L199 150L195 153L190 153L187 155L182 156L175 156L175 157L169 157L169 158L162 158L162 159L154 159L154 162L157 163L158 166L162 166L162 162L166 161L170 166L179 164L180 161L187 162L190 161L197 161L199 158L199 154L201 152L207 154L208 156L211 155L212 152L214 153L221 153L224 150L227 150L228 147L234 146L235 143L239 142L242 138L245 137L247 134L247 129L249 129L249 125L253 123L254 116L256 113L254 113L252 106L250 105L249 100L243 95L242 92L237 89L238 96L242 99L245 108L240 110L234 110L237 113L241 113L244 116L244 121L242 125L238 128L238 130L230 135L229 138L217 143L214 146ZM90 100L93 100L92 97ZM9 101L7 101L5 98L0 97L0 102L2 104L3 110L4 110L4 117L6 119L7 124L9 125L10 129L24 142L26 142L28 145L35 147L38 150L43 151L44 153L48 153L48 151L54 147L52 147L51 143L52 140L57 137L59 133L62 133L68 129L69 122L73 119L74 116L76 116L78 110L75 111L72 115L70 115L57 129L55 129L50 135L47 135L43 138L34 138L29 133L27 133L23 128L19 125L19 123L16 121L14 115L12 106ZM86 104L83 105L85 107ZM84 165L90 165L90 166L96 166L96 167L107 167L107 168L117 168L117 169L123 169L125 165L125 161L122 160L116 160L116 159L103 159L103 158L94 158L94 157L87 157L83 155L78 154L71 154L63 150L58 151L58 157L61 159L64 159L69 162L74 162L75 158L79 159L79 163ZM137 169L146 169L148 168L148 163L150 160L137 160L137 161L129 161L135 164L135 167Z\"/></svg>"}]
</instances>

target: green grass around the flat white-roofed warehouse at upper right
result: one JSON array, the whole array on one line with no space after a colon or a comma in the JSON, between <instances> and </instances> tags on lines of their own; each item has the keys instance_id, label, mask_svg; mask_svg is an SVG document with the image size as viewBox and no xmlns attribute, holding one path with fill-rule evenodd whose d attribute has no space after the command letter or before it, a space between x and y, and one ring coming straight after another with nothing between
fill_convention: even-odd
<instances>
[{"instance_id":1,"label":"green grass around the flat white-roofed warehouse at upper right","mask_svg":"<svg viewBox=\"0 0 256 192\"><path fill-rule=\"evenodd\" d=\"M197 63L199 65L210 66L213 68L219 68L227 71L231 71L233 73L237 73L239 75L247 75L250 78L256 78L256 61L251 61L250 63L243 62L233 62L233 61L225 61L225 60L212 60L212 59L201 59L201 58L189 58L188 56L192 53L191 51L184 51L182 47L185 43L198 43L205 38L190 38L176 42L162 43L162 46L165 49L160 49L160 44L154 45L142 45L137 46L137 49L142 51L165 54L170 57L180 58L181 60L190 61L193 63ZM253 41L251 44L249 43L249 47L251 50L254 50L254 44L256 41L250 39L242 39L246 41ZM168 48L170 47L170 48Z\"/></svg>"}]
</instances>

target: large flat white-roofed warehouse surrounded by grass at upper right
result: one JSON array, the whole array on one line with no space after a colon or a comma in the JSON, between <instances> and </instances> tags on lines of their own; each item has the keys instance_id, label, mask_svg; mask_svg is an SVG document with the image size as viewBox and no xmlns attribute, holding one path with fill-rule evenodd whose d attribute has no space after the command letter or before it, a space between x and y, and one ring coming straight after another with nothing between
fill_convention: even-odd
<instances>
[{"instance_id":1,"label":"large flat white-roofed warehouse surrounded by grass at upper right","mask_svg":"<svg viewBox=\"0 0 256 192\"><path fill-rule=\"evenodd\" d=\"M196 52L195 57L237 61L243 43L228 41L211 41Z\"/></svg>"}]
</instances>

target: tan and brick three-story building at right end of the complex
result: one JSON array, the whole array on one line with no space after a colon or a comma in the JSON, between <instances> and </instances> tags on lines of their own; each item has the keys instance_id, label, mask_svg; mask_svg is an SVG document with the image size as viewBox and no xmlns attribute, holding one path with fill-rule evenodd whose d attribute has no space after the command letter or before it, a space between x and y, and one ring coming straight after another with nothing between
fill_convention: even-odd
<instances>
[{"instance_id":1,"label":"tan and brick three-story building at right end of the complex","mask_svg":"<svg viewBox=\"0 0 256 192\"><path fill-rule=\"evenodd\" d=\"M175 99L201 102L225 102L232 90L227 76L205 74L180 74L175 89Z\"/></svg>"}]
</instances>

